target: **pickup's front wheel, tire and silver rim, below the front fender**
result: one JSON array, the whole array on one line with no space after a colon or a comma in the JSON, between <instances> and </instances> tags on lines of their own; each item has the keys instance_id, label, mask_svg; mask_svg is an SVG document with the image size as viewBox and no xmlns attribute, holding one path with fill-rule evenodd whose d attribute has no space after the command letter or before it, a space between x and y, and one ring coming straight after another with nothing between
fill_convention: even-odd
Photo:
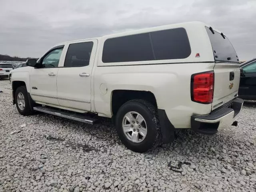
<instances>
[{"instance_id":1,"label":"pickup's front wheel, tire and silver rim, below the front fender","mask_svg":"<svg viewBox=\"0 0 256 192\"><path fill-rule=\"evenodd\" d=\"M32 114L28 101L28 92L26 86L20 86L15 92L15 102L20 114L27 116Z\"/></svg>"}]
</instances>

